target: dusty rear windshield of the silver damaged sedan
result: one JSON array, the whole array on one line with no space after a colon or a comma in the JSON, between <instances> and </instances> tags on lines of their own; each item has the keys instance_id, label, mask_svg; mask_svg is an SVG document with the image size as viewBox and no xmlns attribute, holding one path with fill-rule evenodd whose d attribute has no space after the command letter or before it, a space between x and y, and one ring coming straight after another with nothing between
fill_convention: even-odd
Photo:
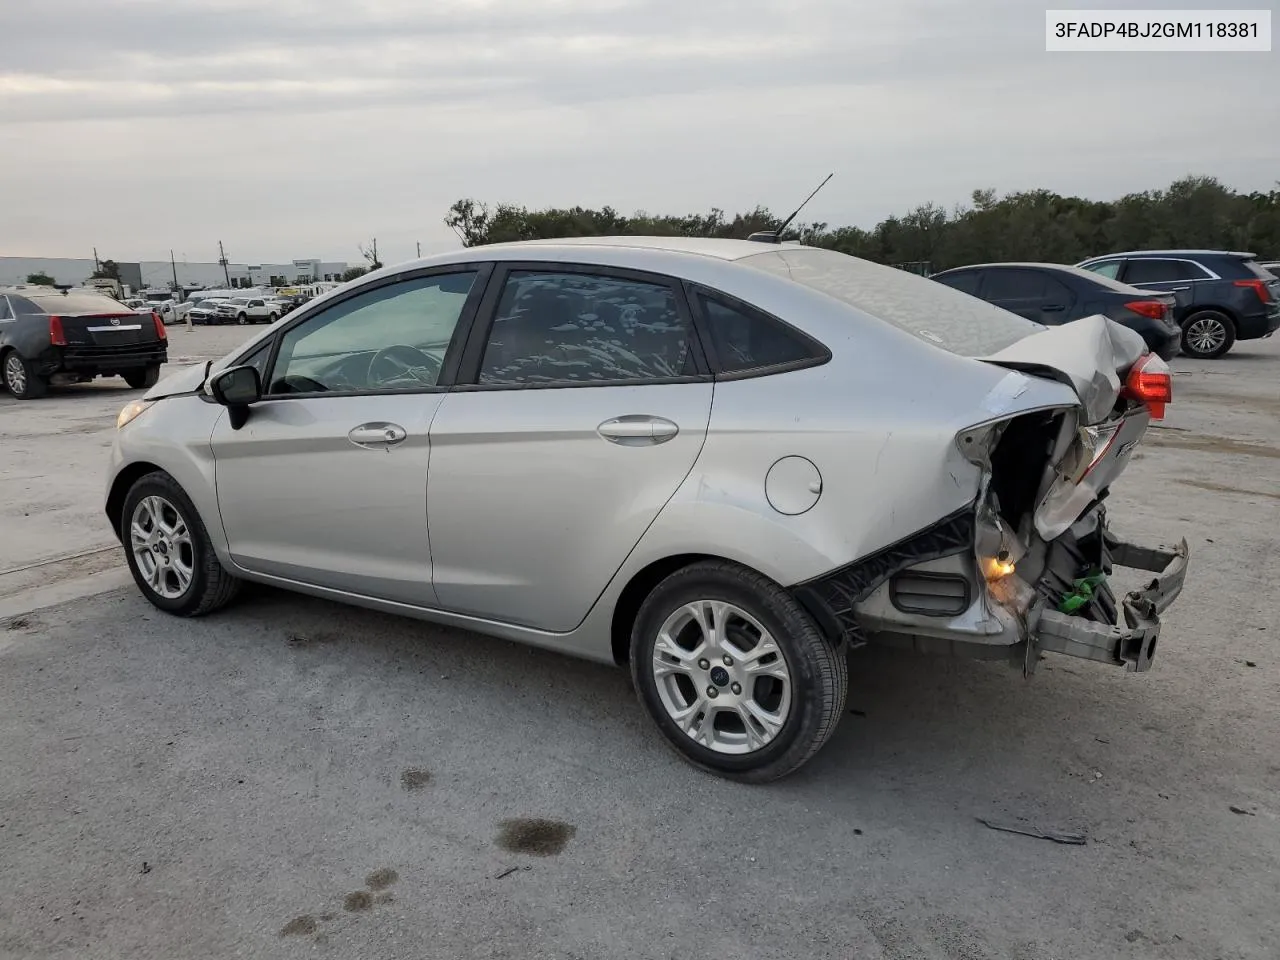
<instances>
[{"instance_id":1,"label":"dusty rear windshield of the silver damaged sedan","mask_svg":"<svg viewBox=\"0 0 1280 960\"><path fill-rule=\"evenodd\" d=\"M1044 329L937 280L829 250L786 247L737 262L790 278L966 357L996 353Z\"/></svg>"}]
</instances>

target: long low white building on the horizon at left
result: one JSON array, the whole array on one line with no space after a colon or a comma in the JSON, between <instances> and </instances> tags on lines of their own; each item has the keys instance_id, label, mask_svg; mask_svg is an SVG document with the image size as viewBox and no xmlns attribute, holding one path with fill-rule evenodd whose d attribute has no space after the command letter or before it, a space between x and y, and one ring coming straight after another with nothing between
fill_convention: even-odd
<instances>
[{"instance_id":1,"label":"long low white building on the horizon at left","mask_svg":"<svg viewBox=\"0 0 1280 960\"><path fill-rule=\"evenodd\" d=\"M349 264L328 260L293 260L288 264L191 264L168 260L116 261L120 282L133 291L170 289L174 273L184 289L225 287L287 287L316 280L339 280ZM26 283L31 274L44 273L55 283L79 285L95 270L91 257L0 257L0 284Z\"/></svg>"}]
</instances>

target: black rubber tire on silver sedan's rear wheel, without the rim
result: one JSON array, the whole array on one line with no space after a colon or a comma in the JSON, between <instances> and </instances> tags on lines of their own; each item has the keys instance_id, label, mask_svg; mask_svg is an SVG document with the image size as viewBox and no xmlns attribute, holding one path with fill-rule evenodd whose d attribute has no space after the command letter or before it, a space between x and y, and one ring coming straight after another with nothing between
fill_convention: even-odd
<instances>
[{"instance_id":1,"label":"black rubber tire on silver sedan's rear wheel, without the rim","mask_svg":"<svg viewBox=\"0 0 1280 960\"><path fill-rule=\"evenodd\" d=\"M750 753L722 753L696 742L671 717L659 694L653 669L658 632L669 616L696 600L727 602L758 621L773 636L790 675L791 704L781 728L764 746ZM698 668L700 677L700 664L690 663L690 667ZM713 676L716 669L717 664L712 664L707 680L713 682L708 686L718 682ZM658 584L645 598L631 630L631 677L640 703L667 742L685 760L746 783L780 780L808 763L835 732L849 692L844 649L833 645L804 608L776 582L724 561L685 567ZM698 681L692 682L696 685ZM723 684L719 689L724 689ZM737 691L737 687L733 689ZM700 689L695 695L703 699ZM733 719L731 716L727 718ZM713 728L718 722L712 721ZM737 724L742 726L741 721Z\"/></svg>"}]
</instances>

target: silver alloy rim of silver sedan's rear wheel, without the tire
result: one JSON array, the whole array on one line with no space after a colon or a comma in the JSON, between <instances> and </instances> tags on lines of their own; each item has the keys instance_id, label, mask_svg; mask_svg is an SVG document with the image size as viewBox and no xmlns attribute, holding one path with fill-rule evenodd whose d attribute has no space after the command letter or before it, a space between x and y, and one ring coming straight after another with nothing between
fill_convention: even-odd
<instances>
[{"instance_id":1,"label":"silver alloy rim of silver sedan's rear wheel, without the tire","mask_svg":"<svg viewBox=\"0 0 1280 960\"><path fill-rule=\"evenodd\" d=\"M777 641L723 600L686 603L667 617L653 648L653 677L667 716L719 754L763 749L791 710L791 672Z\"/></svg>"}]
</instances>

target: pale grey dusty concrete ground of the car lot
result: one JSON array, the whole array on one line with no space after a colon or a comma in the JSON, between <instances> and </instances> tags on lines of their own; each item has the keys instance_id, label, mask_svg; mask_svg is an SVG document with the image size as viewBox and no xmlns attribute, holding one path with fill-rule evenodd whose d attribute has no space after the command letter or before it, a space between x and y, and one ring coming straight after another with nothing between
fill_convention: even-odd
<instances>
[{"instance_id":1,"label":"pale grey dusty concrete ground of the car lot","mask_svg":"<svg viewBox=\"0 0 1280 960\"><path fill-rule=\"evenodd\" d=\"M58 558L110 544L134 394L0 396L4 571L55 561L0 571L0 957L1274 959L1280 342L1174 366L1111 507L1192 545L1152 671L859 652L771 787L677 760L622 671L273 590L201 621L95 593L115 550Z\"/></svg>"}]
</instances>

